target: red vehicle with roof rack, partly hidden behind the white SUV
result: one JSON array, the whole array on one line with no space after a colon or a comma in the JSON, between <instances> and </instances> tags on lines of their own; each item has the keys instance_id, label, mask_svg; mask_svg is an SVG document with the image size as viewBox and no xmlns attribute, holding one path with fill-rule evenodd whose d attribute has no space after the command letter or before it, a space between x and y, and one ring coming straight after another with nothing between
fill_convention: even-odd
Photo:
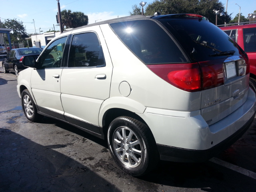
<instances>
[{"instance_id":1,"label":"red vehicle with roof rack, partly hidden behind the white SUV","mask_svg":"<svg viewBox=\"0 0 256 192\"><path fill-rule=\"evenodd\" d=\"M250 64L250 85L256 92L256 24L223 26L220 29L247 53Z\"/></svg>"}]
</instances>

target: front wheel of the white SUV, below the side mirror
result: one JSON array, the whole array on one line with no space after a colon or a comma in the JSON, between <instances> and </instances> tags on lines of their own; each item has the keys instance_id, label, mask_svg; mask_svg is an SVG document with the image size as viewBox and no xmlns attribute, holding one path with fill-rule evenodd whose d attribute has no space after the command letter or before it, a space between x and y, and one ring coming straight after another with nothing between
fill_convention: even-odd
<instances>
[{"instance_id":1,"label":"front wheel of the white SUV, below the side mirror","mask_svg":"<svg viewBox=\"0 0 256 192\"><path fill-rule=\"evenodd\" d=\"M40 117L42 117L37 113L36 105L27 89L22 91L21 105L23 112L28 120L36 122Z\"/></svg>"}]
</instances>

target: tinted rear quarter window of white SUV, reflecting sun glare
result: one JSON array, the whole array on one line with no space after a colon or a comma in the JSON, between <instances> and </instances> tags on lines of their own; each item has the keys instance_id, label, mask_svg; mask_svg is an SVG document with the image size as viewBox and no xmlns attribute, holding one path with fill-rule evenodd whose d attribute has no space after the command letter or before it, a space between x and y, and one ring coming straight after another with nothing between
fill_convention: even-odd
<instances>
[{"instance_id":1,"label":"tinted rear quarter window of white SUV, reflecting sun glare","mask_svg":"<svg viewBox=\"0 0 256 192\"><path fill-rule=\"evenodd\" d=\"M187 61L170 36L152 20L118 22L110 26L145 64Z\"/></svg>"}]
</instances>

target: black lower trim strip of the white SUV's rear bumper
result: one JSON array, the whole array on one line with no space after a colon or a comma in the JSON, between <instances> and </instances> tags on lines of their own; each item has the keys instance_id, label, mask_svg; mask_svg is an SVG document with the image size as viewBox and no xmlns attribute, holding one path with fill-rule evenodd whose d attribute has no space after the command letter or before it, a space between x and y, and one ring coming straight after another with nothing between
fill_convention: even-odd
<instances>
[{"instance_id":1,"label":"black lower trim strip of the white SUV's rear bumper","mask_svg":"<svg viewBox=\"0 0 256 192\"><path fill-rule=\"evenodd\" d=\"M204 162L236 142L250 127L255 114L237 132L208 150L189 150L157 144L160 159L173 162Z\"/></svg>"}]
</instances>

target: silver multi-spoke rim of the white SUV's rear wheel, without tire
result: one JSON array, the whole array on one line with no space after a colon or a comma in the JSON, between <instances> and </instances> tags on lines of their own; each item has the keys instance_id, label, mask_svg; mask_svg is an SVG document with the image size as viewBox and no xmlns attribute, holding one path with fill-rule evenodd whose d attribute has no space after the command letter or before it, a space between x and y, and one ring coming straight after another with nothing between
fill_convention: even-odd
<instances>
[{"instance_id":1,"label":"silver multi-spoke rim of the white SUV's rear wheel, without tire","mask_svg":"<svg viewBox=\"0 0 256 192\"><path fill-rule=\"evenodd\" d=\"M143 158L142 144L128 127L118 127L113 136L114 151L122 164L135 168Z\"/></svg>"}]
</instances>

